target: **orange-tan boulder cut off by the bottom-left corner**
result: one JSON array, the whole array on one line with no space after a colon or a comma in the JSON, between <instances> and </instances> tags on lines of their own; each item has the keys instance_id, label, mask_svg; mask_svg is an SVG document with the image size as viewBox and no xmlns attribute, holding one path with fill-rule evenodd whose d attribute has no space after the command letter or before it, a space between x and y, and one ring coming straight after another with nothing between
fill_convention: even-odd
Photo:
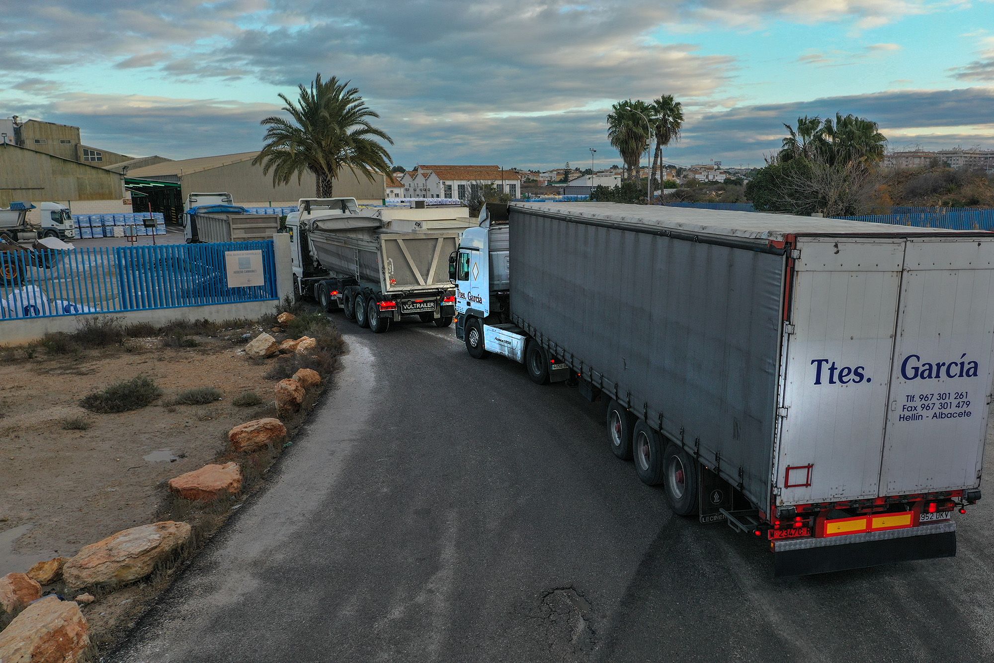
<instances>
[{"instance_id":1,"label":"orange-tan boulder cut off by the bottom-left corner","mask_svg":"<svg viewBox=\"0 0 994 663\"><path fill-rule=\"evenodd\" d=\"M76 663L89 647L89 627L75 601L46 596L0 632L4 663Z\"/></svg>"}]
</instances>

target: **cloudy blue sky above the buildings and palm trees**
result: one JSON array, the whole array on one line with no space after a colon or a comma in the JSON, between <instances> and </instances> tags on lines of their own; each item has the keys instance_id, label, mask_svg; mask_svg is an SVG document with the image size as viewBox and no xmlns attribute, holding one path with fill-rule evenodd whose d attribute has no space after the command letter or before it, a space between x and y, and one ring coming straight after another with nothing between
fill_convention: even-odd
<instances>
[{"instance_id":1,"label":"cloudy blue sky above the buildings and palm trees","mask_svg":"<svg viewBox=\"0 0 994 663\"><path fill-rule=\"evenodd\" d=\"M0 116L172 158L260 146L279 93L338 76L395 163L618 162L604 116L672 94L676 163L761 164L799 114L892 148L994 148L991 0L29 0L0 29ZM16 17L16 18L12 18Z\"/></svg>"}]
</instances>

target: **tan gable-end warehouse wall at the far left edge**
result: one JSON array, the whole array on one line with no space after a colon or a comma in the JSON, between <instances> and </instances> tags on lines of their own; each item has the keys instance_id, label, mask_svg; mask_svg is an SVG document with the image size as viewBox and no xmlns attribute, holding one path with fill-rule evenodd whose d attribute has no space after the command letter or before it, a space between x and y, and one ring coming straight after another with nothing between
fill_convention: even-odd
<instances>
[{"instance_id":1,"label":"tan gable-end warehouse wall at the far left edge","mask_svg":"<svg viewBox=\"0 0 994 663\"><path fill-rule=\"evenodd\" d=\"M0 207L8 206L12 200L123 197L123 182L115 172L0 143Z\"/></svg>"}]
</instances>

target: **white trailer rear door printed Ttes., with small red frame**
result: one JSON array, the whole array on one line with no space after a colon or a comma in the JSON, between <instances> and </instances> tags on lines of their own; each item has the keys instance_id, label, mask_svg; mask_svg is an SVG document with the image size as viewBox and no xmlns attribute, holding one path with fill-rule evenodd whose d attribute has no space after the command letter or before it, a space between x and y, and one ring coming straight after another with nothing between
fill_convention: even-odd
<instances>
[{"instance_id":1,"label":"white trailer rear door printed Ttes., with small red frame","mask_svg":"<svg viewBox=\"0 0 994 663\"><path fill-rule=\"evenodd\" d=\"M904 240L803 238L781 360L778 504L874 498Z\"/></svg>"}]
</instances>

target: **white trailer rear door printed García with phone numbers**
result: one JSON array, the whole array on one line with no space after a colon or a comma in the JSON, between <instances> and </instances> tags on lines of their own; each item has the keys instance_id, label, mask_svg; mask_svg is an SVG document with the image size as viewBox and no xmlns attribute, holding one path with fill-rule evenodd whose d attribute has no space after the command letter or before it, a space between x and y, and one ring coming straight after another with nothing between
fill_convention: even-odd
<instances>
[{"instance_id":1,"label":"white trailer rear door printed Garc\u00eda with phone numbers","mask_svg":"<svg viewBox=\"0 0 994 663\"><path fill-rule=\"evenodd\" d=\"M994 239L909 239L881 495L980 483L994 347Z\"/></svg>"}]
</instances>

